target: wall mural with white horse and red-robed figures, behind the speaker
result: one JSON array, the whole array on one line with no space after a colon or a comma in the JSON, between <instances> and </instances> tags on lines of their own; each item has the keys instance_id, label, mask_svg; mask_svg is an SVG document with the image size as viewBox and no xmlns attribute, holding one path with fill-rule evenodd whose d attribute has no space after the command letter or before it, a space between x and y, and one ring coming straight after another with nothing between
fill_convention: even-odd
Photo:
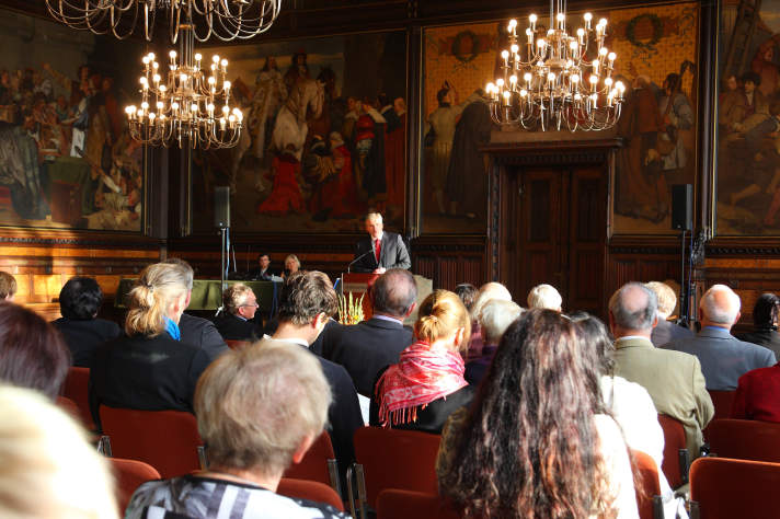
<instances>
[{"instance_id":1,"label":"wall mural with white horse and red-robed figures, behind the speaker","mask_svg":"<svg viewBox=\"0 0 780 519\"><path fill-rule=\"evenodd\" d=\"M238 231L357 231L374 208L403 230L406 36L359 34L205 47L230 61L246 131L194 155L194 229L229 185Z\"/></svg>"}]
</instances>

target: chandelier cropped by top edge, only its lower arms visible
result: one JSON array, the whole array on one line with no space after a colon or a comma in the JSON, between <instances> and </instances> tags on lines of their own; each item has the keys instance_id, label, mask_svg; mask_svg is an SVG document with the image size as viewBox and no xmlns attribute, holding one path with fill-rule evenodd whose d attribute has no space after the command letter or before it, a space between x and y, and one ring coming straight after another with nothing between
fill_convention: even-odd
<instances>
[{"instance_id":1,"label":"chandelier cropped by top edge, only its lower arms visible","mask_svg":"<svg viewBox=\"0 0 780 519\"><path fill-rule=\"evenodd\" d=\"M180 22L193 20L198 42L211 35L222 42L248 39L271 27L282 10L282 0L46 0L49 14L72 28L95 34L111 33L124 39L136 31L139 20L148 42L154 18L165 12L171 42L179 39Z\"/></svg>"}]
</instances>

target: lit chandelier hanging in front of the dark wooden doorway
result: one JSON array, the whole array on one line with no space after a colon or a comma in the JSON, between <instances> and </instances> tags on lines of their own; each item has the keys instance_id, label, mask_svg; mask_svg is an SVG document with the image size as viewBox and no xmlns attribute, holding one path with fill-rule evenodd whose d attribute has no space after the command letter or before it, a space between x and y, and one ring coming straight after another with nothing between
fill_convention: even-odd
<instances>
[{"instance_id":1,"label":"lit chandelier hanging in front of the dark wooden doorway","mask_svg":"<svg viewBox=\"0 0 780 519\"><path fill-rule=\"evenodd\" d=\"M612 78L616 55L604 46L607 20L593 27L593 14L585 13L585 26L570 36L562 0L554 10L551 0L549 28L537 25L536 14L528 21L524 43L517 21L509 21L509 46L500 54L503 74L485 89L493 120L542 131L615 126L626 85Z\"/></svg>"}]
</instances>

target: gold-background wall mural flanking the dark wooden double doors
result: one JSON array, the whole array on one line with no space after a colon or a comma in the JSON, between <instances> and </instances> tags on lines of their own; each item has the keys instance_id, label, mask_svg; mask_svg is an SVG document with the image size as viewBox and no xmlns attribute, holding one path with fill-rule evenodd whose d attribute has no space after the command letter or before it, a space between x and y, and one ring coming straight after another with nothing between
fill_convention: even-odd
<instances>
[{"instance_id":1,"label":"gold-background wall mural flanking the dark wooden double doors","mask_svg":"<svg viewBox=\"0 0 780 519\"><path fill-rule=\"evenodd\" d=\"M597 14L609 20L606 45L618 54L616 74L630 85L613 130L626 139L618 152L613 231L672 233L670 186L693 183L696 172L698 4ZM480 89L494 77L505 24L425 31L425 232L484 232L487 180L475 150L495 128ZM576 134L561 138L576 139Z\"/></svg>"}]
</instances>

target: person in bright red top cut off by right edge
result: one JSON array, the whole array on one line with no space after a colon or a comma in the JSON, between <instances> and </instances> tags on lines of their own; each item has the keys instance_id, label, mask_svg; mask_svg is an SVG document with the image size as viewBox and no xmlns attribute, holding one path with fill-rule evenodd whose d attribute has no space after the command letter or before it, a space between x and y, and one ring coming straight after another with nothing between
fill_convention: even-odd
<instances>
[{"instance_id":1,"label":"person in bright red top cut off by right edge","mask_svg":"<svg viewBox=\"0 0 780 519\"><path fill-rule=\"evenodd\" d=\"M739 377L731 417L780 423L780 364Z\"/></svg>"}]
</instances>

